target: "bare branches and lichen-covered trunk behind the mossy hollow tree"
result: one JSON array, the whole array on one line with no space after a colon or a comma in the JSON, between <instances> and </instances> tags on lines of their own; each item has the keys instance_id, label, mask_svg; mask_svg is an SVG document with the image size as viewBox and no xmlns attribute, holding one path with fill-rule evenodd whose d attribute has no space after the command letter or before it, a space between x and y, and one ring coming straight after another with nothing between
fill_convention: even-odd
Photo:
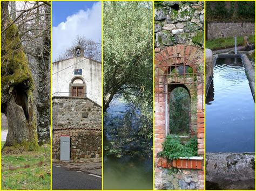
<instances>
[{"instance_id":1,"label":"bare branches and lichen-covered trunk behind the mossy hollow tree","mask_svg":"<svg viewBox=\"0 0 256 191\"><path fill-rule=\"evenodd\" d=\"M32 72L39 144L50 143L50 7L50 2L46 1L10 2L10 12L7 9L8 14L4 18L2 16L3 20L9 20L2 27L2 36L5 37L5 33L12 26L17 27L19 44ZM1 40L3 43L3 38ZM5 56L2 54L2 60L4 59Z\"/></svg>"}]
</instances>

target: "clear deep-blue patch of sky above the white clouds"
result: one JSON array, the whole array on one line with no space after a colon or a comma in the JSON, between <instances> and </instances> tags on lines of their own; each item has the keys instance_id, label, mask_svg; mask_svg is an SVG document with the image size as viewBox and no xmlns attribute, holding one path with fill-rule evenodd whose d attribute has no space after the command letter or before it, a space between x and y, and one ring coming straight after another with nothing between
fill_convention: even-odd
<instances>
[{"instance_id":1,"label":"clear deep-blue patch of sky above the white clouds","mask_svg":"<svg viewBox=\"0 0 256 191\"><path fill-rule=\"evenodd\" d=\"M65 22L70 15L77 13L79 10L91 9L95 2L81 1L52 1L52 26L57 26L61 22Z\"/></svg>"}]
</instances>

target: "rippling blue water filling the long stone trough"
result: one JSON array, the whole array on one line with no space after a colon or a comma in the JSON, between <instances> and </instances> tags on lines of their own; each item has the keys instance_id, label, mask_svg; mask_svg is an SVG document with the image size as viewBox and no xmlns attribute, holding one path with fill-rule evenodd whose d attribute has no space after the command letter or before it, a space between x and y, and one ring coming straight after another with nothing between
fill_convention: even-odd
<instances>
[{"instance_id":1,"label":"rippling blue water filling the long stone trough","mask_svg":"<svg viewBox=\"0 0 256 191\"><path fill-rule=\"evenodd\" d=\"M254 152L254 101L241 60L218 59L206 98L206 152Z\"/></svg>"}]
</instances>

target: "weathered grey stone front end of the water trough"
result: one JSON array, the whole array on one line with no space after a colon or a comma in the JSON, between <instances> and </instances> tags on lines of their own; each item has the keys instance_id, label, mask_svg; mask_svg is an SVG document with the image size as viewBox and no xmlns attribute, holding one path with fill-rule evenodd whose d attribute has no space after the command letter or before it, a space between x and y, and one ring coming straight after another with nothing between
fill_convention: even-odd
<instances>
[{"instance_id":1,"label":"weathered grey stone front end of the water trough","mask_svg":"<svg viewBox=\"0 0 256 191\"><path fill-rule=\"evenodd\" d=\"M254 153L206 153L206 189L255 189Z\"/></svg>"}]
</instances>

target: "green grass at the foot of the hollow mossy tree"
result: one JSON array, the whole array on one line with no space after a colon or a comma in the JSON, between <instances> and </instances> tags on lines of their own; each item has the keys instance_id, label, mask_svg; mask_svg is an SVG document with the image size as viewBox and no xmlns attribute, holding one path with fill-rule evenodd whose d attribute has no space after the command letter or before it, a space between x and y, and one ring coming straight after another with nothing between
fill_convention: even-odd
<instances>
[{"instance_id":1,"label":"green grass at the foot of the hollow mossy tree","mask_svg":"<svg viewBox=\"0 0 256 191\"><path fill-rule=\"evenodd\" d=\"M43 165L38 165L40 161ZM10 170L25 165L30 167ZM2 154L2 189L50 189L50 172L50 145L34 152Z\"/></svg>"}]
</instances>

